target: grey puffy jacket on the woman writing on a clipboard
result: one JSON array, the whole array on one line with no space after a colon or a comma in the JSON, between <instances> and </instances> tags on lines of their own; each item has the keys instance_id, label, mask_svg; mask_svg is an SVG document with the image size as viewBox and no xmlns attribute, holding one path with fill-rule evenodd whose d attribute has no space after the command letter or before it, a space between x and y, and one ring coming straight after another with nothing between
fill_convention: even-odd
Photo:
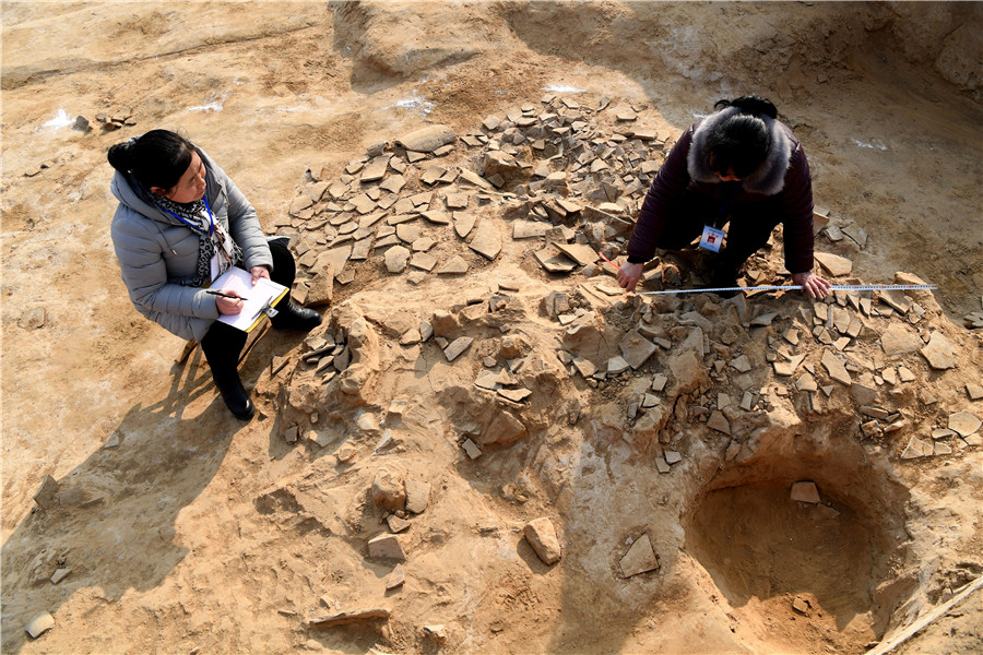
<instances>
[{"instance_id":1,"label":"grey puffy jacket on the woman writing on a clipboard","mask_svg":"<svg viewBox=\"0 0 983 655\"><path fill-rule=\"evenodd\" d=\"M244 267L273 267L270 247L256 210L212 159L205 164L205 195L216 223L242 249ZM153 204L132 176L116 171L110 184L119 207L112 218L112 246L123 284L137 311L181 338L201 341L218 318L215 296L183 286L194 278L198 233Z\"/></svg>"}]
</instances>

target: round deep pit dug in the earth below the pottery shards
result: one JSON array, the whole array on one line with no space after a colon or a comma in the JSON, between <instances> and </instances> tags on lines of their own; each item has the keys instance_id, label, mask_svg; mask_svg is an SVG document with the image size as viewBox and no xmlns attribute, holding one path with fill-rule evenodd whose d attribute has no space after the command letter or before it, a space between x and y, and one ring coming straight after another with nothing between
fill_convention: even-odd
<instances>
[{"instance_id":1,"label":"round deep pit dug in the earth below the pottery shards","mask_svg":"<svg viewBox=\"0 0 983 655\"><path fill-rule=\"evenodd\" d=\"M861 653L912 591L891 574L908 539L908 491L856 444L819 441L822 452L793 437L714 476L686 549L768 646L808 652L818 632L837 652ZM818 503L793 499L800 481L815 484Z\"/></svg>"}]
</instances>

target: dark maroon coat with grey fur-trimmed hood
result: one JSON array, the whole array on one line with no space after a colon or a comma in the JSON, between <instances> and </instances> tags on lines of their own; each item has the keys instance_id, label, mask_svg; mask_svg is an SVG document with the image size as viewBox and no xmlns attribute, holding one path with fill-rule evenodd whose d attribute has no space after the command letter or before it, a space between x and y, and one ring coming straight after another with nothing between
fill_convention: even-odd
<instances>
[{"instance_id":1,"label":"dark maroon coat with grey fur-trimmed hood","mask_svg":"<svg viewBox=\"0 0 983 655\"><path fill-rule=\"evenodd\" d=\"M727 107L694 123L673 146L646 195L628 242L629 261L646 262L654 257L663 226L687 189L723 204L720 178L710 168L703 146L713 129L737 111L736 107ZM771 151L761 167L742 181L729 207L735 213L747 213L766 201L777 206L779 223L783 225L785 267L791 273L805 273L813 270L814 246L809 164L787 126L767 117L762 119L771 130Z\"/></svg>"}]
</instances>

